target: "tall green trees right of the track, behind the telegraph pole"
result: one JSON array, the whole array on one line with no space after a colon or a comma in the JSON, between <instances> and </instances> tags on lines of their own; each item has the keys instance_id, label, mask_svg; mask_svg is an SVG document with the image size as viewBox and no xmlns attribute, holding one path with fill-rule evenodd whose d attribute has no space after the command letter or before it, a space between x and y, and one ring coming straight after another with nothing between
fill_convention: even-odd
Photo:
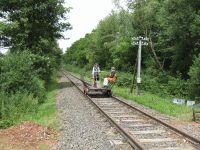
<instances>
[{"instance_id":1,"label":"tall green trees right of the track, behind the telegraph pole","mask_svg":"<svg viewBox=\"0 0 200 150\"><path fill-rule=\"evenodd\" d=\"M115 2L120 9L67 49L64 61L87 69L98 62L133 74L138 47L132 37L148 37L149 45L142 47L142 88L199 100L200 1L128 0L127 10Z\"/></svg>"}]
</instances>

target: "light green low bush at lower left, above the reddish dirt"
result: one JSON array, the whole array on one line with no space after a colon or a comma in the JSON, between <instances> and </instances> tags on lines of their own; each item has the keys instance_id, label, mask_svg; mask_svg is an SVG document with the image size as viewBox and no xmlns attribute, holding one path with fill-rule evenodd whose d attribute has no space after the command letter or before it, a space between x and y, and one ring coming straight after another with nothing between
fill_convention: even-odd
<instances>
[{"instance_id":1,"label":"light green low bush at lower left, above the reddish dirt","mask_svg":"<svg viewBox=\"0 0 200 150\"><path fill-rule=\"evenodd\" d=\"M0 92L0 128L13 125L26 113L37 111L37 108L38 99L28 92Z\"/></svg>"}]
</instances>

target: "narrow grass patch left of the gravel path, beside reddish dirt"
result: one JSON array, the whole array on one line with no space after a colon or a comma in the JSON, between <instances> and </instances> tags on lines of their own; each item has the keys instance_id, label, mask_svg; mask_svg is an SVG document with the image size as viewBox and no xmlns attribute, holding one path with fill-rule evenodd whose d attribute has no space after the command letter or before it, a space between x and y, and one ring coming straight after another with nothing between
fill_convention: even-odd
<instances>
[{"instance_id":1,"label":"narrow grass patch left of the gravel path, beside reddish dirt","mask_svg":"<svg viewBox=\"0 0 200 150\"><path fill-rule=\"evenodd\" d=\"M57 130L59 128L58 114L56 110L56 95L58 87L59 85L57 80L52 80L47 87L46 101L39 106L37 112L27 114L21 119L32 121Z\"/></svg>"}]
</instances>

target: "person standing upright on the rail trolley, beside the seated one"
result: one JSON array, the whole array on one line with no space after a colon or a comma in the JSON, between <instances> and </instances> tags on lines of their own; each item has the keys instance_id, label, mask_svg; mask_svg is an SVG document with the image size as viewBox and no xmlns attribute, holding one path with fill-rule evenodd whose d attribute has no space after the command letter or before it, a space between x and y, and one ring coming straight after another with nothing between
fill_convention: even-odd
<instances>
[{"instance_id":1,"label":"person standing upright on the rail trolley, beside the seated one","mask_svg":"<svg viewBox=\"0 0 200 150\"><path fill-rule=\"evenodd\" d=\"M99 86L99 80L100 80L100 68L99 68L99 64L95 63L95 65L92 68L92 78L94 81L94 87L98 87Z\"/></svg>"}]
</instances>

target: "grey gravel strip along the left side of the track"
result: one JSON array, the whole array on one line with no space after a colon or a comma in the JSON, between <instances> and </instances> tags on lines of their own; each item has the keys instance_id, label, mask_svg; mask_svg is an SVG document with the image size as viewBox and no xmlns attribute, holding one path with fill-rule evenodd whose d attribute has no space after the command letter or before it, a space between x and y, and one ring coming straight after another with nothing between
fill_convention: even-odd
<instances>
[{"instance_id":1,"label":"grey gravel strip along the left side of the track","mask_svg":"<svg viewBox=\"0 0 200 150\"><path fill-rule=\"evenodd\" d=\"M57 107L62 120L61 135L54 149L132 149L66 77L60 79Z\"/></svg>"}]
</instances>

